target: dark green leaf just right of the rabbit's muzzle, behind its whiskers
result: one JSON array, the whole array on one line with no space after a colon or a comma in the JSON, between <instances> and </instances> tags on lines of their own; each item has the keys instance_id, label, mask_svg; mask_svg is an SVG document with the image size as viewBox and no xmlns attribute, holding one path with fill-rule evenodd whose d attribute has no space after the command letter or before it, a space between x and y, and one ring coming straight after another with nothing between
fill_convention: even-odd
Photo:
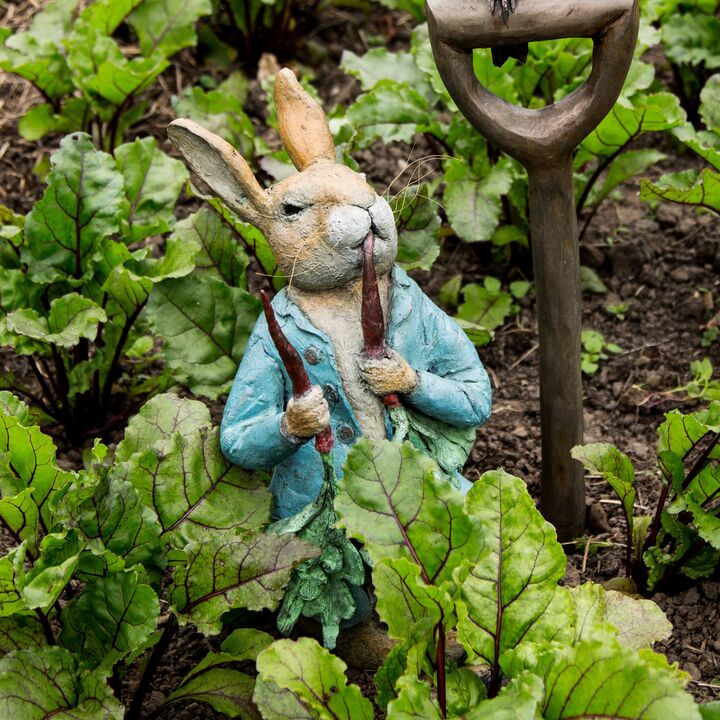
<instances>
[{"instance_id":1,"label":"dark green leaf just right of the rabbit's muzzle, behind its whiskers","mask_svg":"<svg viewBox=\"0 0 720 720\"><path fill-rule=\"evenodd\" d=\"M390 201L398 229L397 262L405 270L430 270L440 254L440 215L427 184L409 185Z\"/></svg>"}]
</instances>

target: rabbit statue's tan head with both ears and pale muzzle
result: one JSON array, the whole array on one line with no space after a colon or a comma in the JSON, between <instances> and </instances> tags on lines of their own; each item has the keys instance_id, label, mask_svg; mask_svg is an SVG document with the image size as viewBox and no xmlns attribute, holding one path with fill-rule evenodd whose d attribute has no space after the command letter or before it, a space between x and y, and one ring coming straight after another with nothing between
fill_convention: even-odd
<instances>
[{"instance_id":1,"label":"rabbit statue's tan head with both ears and pale muzzle","mask_svg":"<svg viewBox=\"0 0 720 720\"><path fill-rule=\"evenodd\" d=\"M285 68L275 81L280 136L299 172L265 190L229 143L190 120L168 135L190 167L267 238L280 270L303 290L330 290L360 277L363 241L375 238L378 274L397 254L390 206L365 176L335 161L322 108Z\"/></svg>"}]
</instances>

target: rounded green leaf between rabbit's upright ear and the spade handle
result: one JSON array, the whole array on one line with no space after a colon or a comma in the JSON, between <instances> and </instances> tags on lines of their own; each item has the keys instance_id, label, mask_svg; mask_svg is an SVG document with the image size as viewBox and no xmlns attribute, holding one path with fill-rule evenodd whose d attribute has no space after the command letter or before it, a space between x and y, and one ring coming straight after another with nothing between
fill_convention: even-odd
<instances>
[{"instance_id":1,"label":"rounded green leaf between rabbit's upright ear and the spade handle","mask_svg":"<svg viewBox=\"0 0 720 720\"><path fill-rule=\"evenodd\" d=\"M373 90L360 95L348 108L348 120L358 133L358 147L368 147L380 138L384 143L412 143L432 118L427 100L414 87L381 80Z\"/></svg>"}]
</instances>

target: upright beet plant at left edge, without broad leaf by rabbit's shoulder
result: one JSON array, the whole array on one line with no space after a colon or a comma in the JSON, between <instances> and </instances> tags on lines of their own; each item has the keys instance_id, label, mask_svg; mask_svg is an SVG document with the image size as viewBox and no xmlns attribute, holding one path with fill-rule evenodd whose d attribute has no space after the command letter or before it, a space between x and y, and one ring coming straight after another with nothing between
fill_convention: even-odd
<instances>
[{"instance_id":1,"label":"upright beet plant at left edge, without broad leaf by rabbit's shoulder","mask_svg":"<svg viewBox=\"0 0 720 720\"><path fill-rule=\"evenodd\" d=\"M108 420L153 284L189 273L197 248L168 239L153 257L142 247L175 223L187 177L152 138L112 158L76 133L51 163L42 199L2 228L0 343L30 371L6 372L2 383L82 443Z\"/></svg>"}]
</instances>

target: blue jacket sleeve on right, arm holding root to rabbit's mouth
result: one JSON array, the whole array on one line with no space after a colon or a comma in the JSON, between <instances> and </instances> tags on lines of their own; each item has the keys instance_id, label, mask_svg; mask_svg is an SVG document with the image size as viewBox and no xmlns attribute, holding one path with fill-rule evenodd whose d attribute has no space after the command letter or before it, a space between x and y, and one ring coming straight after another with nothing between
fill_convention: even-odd
<instances>
[{"instance_id":1,"label":"blue jacket sleeve on right, arm holding root to rabbit's mouth","mask_svg":"<svg viewBox=\"0 0 720 720\"><path fill-rule=\"evenodd\" d=\"M421 412L455 427L477 427L489 417L492 388L475 346L463 329L424 293L415 298L422 318L424 356L413 365L418 386L405 396Z\"/></svg>"}]
</instances>

